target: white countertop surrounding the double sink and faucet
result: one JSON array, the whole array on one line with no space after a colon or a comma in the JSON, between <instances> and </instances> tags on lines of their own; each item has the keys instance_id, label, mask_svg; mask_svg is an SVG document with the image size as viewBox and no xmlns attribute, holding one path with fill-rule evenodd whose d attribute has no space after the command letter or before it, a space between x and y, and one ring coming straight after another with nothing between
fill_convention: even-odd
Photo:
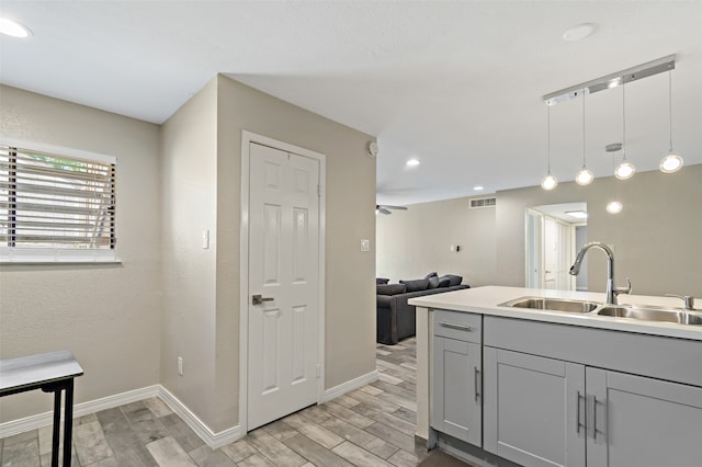
<instances>
[{"instance_id":1,"label":"white countertop surrounding the double sink and faucet","mask_svg":"<svg viewBox=\"0 0 702 467\"><path fill-rule=\"evenodd\" d=\"M540 288L485 286L427 295L409 300L410 305L426 308L441 308L456 311L478 312L506 318L528 319L532 321L556 322L588 328L610 329L614 331L637 332L642 334L665 335L670 338L702 341L702 326L677 324L672 322L642 321L631 318L574 314L564 311L534 310L528 308L500 307L498 304L519 297L570 298L588 301L604 301L603 293L546 291ZM702 303L699 300L698 303ZM682 300L675 297L654 297L645 295L620 295L620 305L649 305L680 309ZM697 310L702 315L702 310Z\"/></svg>"}]
</instances>

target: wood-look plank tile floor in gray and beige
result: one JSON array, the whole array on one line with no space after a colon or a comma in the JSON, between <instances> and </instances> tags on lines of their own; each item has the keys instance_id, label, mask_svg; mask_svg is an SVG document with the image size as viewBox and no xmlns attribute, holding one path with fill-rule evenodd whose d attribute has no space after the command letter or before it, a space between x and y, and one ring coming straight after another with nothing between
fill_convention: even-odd
<instances>
[{"instance_id":1,"label":"wood-look plank tile floor in gray and beige","mask_svg":"<svg viewBox=\"0 0 702 467\"><path fill-rule=\"evenodd\" d=\"M416 466L416 341L376 348L380 379L211 449L160 399L75 421L73 466ZM52 428L0 440L2 467L50 465Z\"/></svg>"}]
</instances>

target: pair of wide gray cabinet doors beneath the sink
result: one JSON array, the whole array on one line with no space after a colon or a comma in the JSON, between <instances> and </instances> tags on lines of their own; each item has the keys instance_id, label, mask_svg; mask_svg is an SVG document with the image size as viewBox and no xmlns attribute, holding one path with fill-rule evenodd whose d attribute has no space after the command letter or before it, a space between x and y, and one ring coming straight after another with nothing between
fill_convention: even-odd
<instances>
[{"instance_id":1,"label":"pair of wide gray cabinet doors beneath the sink","mask_svg":"<svg viewBox=\"0 0 702 467\"><path fill-rule=\"evenodd\" d=\"M483 352L485 451L523 466L702 465L702 388Z\"/></svg>"}]
</instances>

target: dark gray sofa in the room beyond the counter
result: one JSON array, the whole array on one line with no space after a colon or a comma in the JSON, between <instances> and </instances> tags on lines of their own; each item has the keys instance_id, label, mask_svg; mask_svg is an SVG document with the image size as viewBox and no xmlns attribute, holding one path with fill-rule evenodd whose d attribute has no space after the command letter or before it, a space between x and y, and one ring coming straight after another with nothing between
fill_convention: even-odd
<instances>
[{"instance_id":1,"label":"dark gray sofa in the room beyond the counter","mask_svg":"<svg viewBox=\"0 0 702 467\"><path fill-rule=\"evenodd\" d=\"M376 340L378 343L394 345L400 339L416 333L416 311L407 300L424 295L469 288L461 284L463 277L448 274L441 277L400 281L399 284L378 284L376 309Z\"/></svg>"}]
</instances>

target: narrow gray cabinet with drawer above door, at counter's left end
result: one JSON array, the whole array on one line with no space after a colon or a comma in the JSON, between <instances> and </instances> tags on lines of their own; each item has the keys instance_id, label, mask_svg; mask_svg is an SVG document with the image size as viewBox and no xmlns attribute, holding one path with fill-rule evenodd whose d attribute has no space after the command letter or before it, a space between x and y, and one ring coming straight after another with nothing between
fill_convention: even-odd
<instances>
[{"instance_id":1,"label":"narrow gray cabinet with drawer above door, at counter's left end","mask_svg":"<svg viewBox=\"0 0 702 467\"><path fill-rule=\"evenodd\" d=\"M431 426L480 446L482 317L434 311L432 345Z\"/></svg>"}]
</instances>

